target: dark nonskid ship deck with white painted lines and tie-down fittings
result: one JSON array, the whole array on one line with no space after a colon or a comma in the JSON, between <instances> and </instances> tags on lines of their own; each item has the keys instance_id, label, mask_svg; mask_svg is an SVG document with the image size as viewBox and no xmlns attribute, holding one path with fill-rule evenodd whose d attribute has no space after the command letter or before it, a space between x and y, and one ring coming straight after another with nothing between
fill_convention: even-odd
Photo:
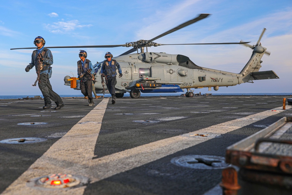
<instances>
[{"instance_id":1,"label":"dark nonskid ship deck with white painted lines and tie-down fittings","mask_svg":"<svg viewBox=\"0 0 292 195\"><path fill-rule=\"evenodd\" d=\"M209 158L220 161L228 146L291 116L283 98L290 97L99 98L96 106L64 98L60 110L42 109L43 100L1 100L0 141L9 140L0 143L0 193L204 194L221 180L222 169ZM57 173L89 184L27 186Z\"/></svg>"}]
</instances>

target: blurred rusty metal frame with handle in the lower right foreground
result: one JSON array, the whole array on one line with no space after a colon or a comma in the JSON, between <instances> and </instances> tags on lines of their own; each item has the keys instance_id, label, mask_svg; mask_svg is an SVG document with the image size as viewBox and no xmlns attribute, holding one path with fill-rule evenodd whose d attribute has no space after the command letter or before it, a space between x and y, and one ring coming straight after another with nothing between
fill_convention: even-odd
<instances>
[{"instance_id":1,"label":"blurred rusty metal frame with handle in the lower right foreground","mask_svg":"<svg viewBox=\"0 0 292 195\"><path fill-rule=\"evenodd\" d=\"M270 139L269 137L292 117L284 117L269 127L227 147L226 162L245 169L292 174L292 156L261 153L258 148L263 142L292 144L291 140Z\"/></svg>"}]
</instances>

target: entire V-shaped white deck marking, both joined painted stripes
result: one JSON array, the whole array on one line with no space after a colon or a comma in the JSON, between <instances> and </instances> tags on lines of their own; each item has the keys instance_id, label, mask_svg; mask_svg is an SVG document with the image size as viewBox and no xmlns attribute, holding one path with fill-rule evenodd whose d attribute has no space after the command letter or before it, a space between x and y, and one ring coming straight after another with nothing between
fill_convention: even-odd
<instances>
[{"instance_id":1,"label":"entire V-shaped white deck marking, both joined painted stripes","mask_svg":"<svg viewBox=\"0 0 292 195\"><path fill-rule=\"evenodd\" d=\"M101 122L107 105L105 102L105 99L103 99L97 106L99 108L94 108L79 122L88 120ZM278 109L281 111L281 108L278 107L273 110ZM277 113L279 112L264 111L194 132L224 134L255 122L250 118L262 120ZM86 128L81 129L84 126L80 124L74 125L64 137L55 142L43 156L37 159L26 172L15 180L3 194L44 195L48 192L48 194L81 195L84 193L84 188L67 191L39 191L26 187L26 181L35 177L61 172L83 175L89 177L91 182L97 182L213 139L213 137L175 136L92 160L100 126L86 125ZM67 149L66 146L70 147Z\"/></svg>"}]
</instances>

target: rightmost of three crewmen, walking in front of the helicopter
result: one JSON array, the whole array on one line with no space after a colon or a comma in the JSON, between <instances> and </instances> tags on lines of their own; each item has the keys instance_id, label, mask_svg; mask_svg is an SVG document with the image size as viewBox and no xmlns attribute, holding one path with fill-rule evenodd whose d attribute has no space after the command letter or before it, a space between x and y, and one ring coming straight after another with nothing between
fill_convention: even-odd
<instances>
[{"instance_id":1,"label":"rightmost of three crewmen, walking in front of the helicopter","mask_svg":"<svg viewBox=\"0 0 292 195\"><path fill-rule=\"evenodd\" d=\"M106 60L102 63L100 73L107 77L107 89L112 95L112 104L114 104L116 103L115 87L117 84L117 69L119 71L119 77L122 77L123 74L119 63L117 63L116 60L112 59L112 54L110 52L107 52L105 54L105 59Z\"/></svg>"}]
</instances>

